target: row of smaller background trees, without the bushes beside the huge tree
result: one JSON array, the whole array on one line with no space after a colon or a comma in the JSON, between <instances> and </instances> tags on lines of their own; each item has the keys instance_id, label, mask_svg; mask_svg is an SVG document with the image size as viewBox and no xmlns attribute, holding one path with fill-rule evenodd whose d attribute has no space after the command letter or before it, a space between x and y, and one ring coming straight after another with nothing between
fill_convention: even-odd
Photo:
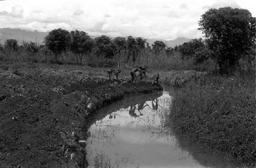
<instances>
[{"instance_id":1,"label":"row of smaller background trees, without the bushes beside the huge tree","mask_svg":"<svg viewBox=\"0 0 256 168\"><path fill-rule=\"evenodd\" d=\"M22 45L18 46L15 39L8 39L4 47L0 47L12 50L17 50L20 47L31 53L36 53L39 50L52 52L55 62L58 62L58 57L62 52L71 51L79 57L80 64L85 56L92 53L106 63L108 59L114 56L120 58L122 52L126 53L127 61L132 60L133 62L136 62L138 55L145 49L152 50L155 54L164 52L167 55L171 55L174 52L174 48L166 47L162 41L155 41L151 47L146 43L146 39L141 37L134 38L129 36L127 38L116 37L112 39L102 35L93 39L88 33L78 30L71 32L63 29L52 30L45 37L44 43L45 45L38 45L37 42L23 42Z\"/></svg>"}]
</instances>

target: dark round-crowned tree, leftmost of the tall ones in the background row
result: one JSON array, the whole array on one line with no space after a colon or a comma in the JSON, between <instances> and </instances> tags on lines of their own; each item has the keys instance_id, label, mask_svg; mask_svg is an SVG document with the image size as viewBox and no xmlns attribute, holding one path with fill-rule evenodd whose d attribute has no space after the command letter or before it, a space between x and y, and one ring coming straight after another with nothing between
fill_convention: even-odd
<instances>
[{"instance_id":1,"label":"dark round-crowned tree, leftmost of the tall ones in the background row","mask_svg":"<svg viewBox=\"0 0 256 168\"><path fill-rule=\"evenodd\" d=\"M54 53L57 62L57 56L66 51L70 45L70 33L63 29L52 30L45 37L45 44Z\"/></svg>"}]
</instances>

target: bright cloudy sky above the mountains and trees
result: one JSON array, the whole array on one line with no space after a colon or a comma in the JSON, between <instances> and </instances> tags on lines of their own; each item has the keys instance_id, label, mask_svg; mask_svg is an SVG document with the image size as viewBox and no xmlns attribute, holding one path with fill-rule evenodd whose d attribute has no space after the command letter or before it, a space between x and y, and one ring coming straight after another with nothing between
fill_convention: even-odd
<instances>
[{"instance_id":1,"label":"bright cloudy sky above the mountains and trees","mask_svg":"<svg viewBox=\"0 0 256 168\"><path fill-rule=\"evenodd\" d=\"M248 9L253 0L5 0L0 1L0 28L48 32L62 28L89 35L134 36L174 40L202 37L198 21L210 8Z\"/></svg>"}]
</instances>

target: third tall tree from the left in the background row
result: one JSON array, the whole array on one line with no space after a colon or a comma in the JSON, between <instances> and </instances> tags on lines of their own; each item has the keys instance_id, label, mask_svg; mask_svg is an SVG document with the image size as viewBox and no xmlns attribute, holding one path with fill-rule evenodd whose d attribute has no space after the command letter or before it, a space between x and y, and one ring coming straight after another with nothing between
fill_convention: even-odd
<instances>
[{"instance_id":1,"label":"third tall tree from the left in the background row","mask_svg":"<svg viewBox=\"0 0 256 168\"><path fill-rule=\"evenodd\" d=\"M114 56L115 45L108 36L100 36L95 38L95 52L102 59L105 58L105 63L107 63L109 58Z\"/></svg>"}]
</instances>

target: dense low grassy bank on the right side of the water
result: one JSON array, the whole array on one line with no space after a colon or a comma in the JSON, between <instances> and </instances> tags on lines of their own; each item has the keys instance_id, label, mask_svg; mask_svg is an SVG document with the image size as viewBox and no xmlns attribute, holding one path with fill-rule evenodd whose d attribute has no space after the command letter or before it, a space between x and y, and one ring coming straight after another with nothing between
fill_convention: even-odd
<instances>
[{"instance_id":1,"label":"dense low grassy bank on the right side of the water","mask_svg":"<svg viewBox=\"0 0 256 168\"><path fill-rule=\"evenodd\" d=\"M205 76L175 90L167 120L175 133L255 165L255 72Z\"/></svg>"}]
</instances>

